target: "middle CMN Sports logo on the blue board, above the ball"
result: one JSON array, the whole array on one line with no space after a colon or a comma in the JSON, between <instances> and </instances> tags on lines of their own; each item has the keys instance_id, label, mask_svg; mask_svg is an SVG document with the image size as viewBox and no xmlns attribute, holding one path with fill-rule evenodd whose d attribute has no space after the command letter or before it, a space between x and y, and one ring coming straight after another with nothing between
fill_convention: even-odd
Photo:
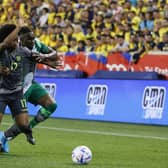
<instances>
[{"instance_id":1,"label":"middle CMN Sports logo on the blue board, above the ball","mask_svg":"<svg viewBox=\"0 0 168 168\"><path fill-rule=\"evenodd\" d=\"M107 85L89 85L86 95L89 115L104 115L107 92Z\"/></svg>"}]
</instances>

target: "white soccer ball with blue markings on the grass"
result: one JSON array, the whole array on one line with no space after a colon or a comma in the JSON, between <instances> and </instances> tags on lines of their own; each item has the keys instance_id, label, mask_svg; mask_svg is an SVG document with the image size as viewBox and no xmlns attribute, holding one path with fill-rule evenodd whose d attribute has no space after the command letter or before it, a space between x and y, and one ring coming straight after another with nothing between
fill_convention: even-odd
<instances>
[{"instance_id":1,"label":"white soccer ball with blue markings on the grass","mask_svg":"<svg viewBox=\"0 0 168 168\"><path fill-rule=\"evenodd\" d=\"M92 152L87 146L77 146L72 151L72 161L75 164L87 164L91 159Z\"/></svg>"}]
</instances>

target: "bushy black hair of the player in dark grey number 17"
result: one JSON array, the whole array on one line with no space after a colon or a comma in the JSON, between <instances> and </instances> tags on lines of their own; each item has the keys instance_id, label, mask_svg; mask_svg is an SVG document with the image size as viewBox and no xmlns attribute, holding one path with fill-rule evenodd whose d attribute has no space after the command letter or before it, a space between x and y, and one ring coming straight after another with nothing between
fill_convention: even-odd
<instances>
[{"instance_id":1,"label":"bushy black hair of the player in dark grey number 17","mask_svg":"<svg viewBox=\"0 0 168 168\"><path fill-rule=\"evenodd\" d=\"M16 28L15 24L4 24L0 28L0 43L5 40L5 38L13 32L13 30Z\"/></svg>"}]
</instances>

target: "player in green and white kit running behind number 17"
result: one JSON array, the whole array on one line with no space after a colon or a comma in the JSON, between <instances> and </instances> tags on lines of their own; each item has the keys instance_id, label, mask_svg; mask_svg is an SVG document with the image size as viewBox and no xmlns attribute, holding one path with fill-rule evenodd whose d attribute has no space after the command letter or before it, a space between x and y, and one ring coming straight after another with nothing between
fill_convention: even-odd
<instances>
[{"instance_id":1,"label":"player in green and white kit running behind number 17","mask_svg":"<svg viewBox=\"0 0 168 168\"><path fill-rule=\"evenodd\" d=\"M49 118L57 108L55 100L48 94L47 90L34 80L36 63L40 62L58 68L62 65L62 60L55 50L36 39L28 27L22 27L18 35L20 45L31 51L32 56L35 58L24 60L25 67L22 72L24 76L23 92L26 100L34 105L41 106L35 117L29 123L30 127L33 128L38 123ZM20 129L16 124L4 132L7 135L6 138L9 140L15 138L20 133Z\"/></svg>"}]
</instances>

